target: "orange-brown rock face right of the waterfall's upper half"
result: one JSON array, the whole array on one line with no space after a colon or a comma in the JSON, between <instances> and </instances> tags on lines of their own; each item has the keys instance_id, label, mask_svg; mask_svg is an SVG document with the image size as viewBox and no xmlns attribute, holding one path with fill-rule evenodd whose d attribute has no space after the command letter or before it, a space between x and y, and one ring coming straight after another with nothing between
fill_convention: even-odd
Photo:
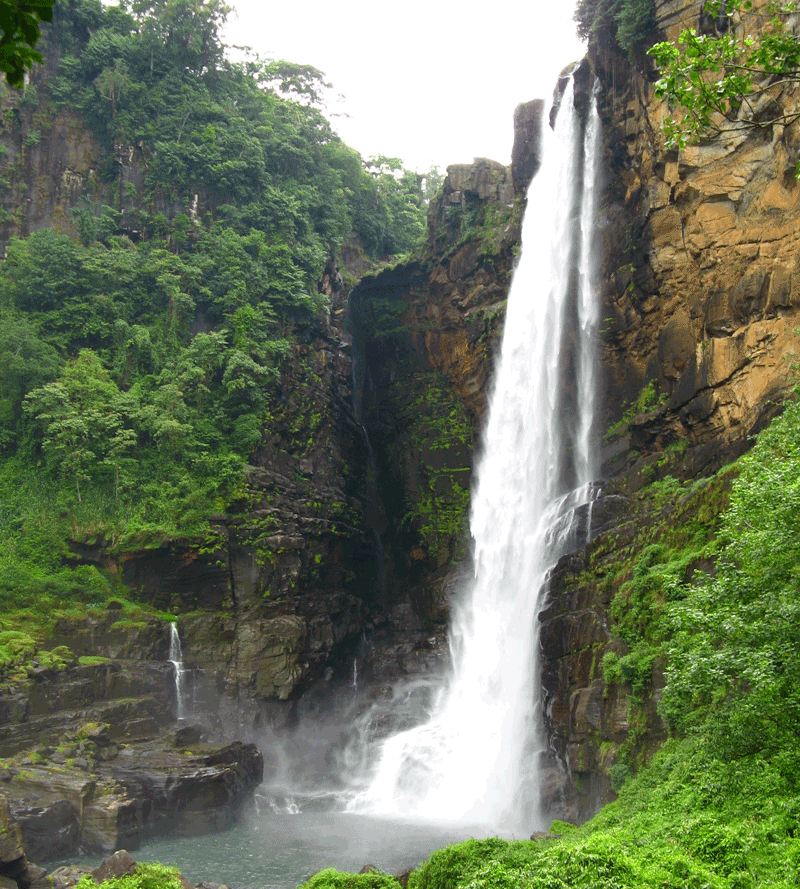
<instances>
[{"instance_id":1,"label":"orange-brown rock face right of the waterfall's upper half","mask_svg":"<svg viewBox=\"0 0 800 889\"><path fill-rule=\"evenodd\" d=\"M671 39L701 26L699 5L685 0L664 3L659 16ZM668 437L725 449L786 389L800 348L800 127L768 125L767 108L760 129L670 151L661 127L672 112L655 99L652 76L628 69L620 90L622 60L608 48L593 55L614 146L607 420L653 380ZM786 88L769 101L796 108L798 95Z\"/></svg>"}]
</instances>

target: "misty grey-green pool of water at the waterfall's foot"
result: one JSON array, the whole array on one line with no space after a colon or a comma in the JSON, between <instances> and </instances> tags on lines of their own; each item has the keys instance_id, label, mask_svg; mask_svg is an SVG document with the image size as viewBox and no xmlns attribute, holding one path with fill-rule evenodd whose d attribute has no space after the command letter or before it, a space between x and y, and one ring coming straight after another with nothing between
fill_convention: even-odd
<instances>
[{"instance_id":1,"label":"misty grey-green pool of water at the waterfall's foot","mask_svg":"<svg viewBox=\"0 0 800 889\"><path fill-rule=\"evenodd\" d=\"M485 828L403 822L341 812L262 811L222 834L149 842L137 861L179 868L192 883L231 889L291 889L325 867L359 871L372 864L386 873L417 867L435 849Z\"/></svg>"}]
</instances>

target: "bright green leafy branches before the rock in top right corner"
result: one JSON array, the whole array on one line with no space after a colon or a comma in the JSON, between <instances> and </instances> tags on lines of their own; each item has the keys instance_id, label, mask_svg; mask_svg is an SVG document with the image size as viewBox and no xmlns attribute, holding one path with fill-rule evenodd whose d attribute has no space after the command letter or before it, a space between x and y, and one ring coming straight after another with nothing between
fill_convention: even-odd
<instances>
[{"instance_id":1,"label":"bright green leafy branches before the rock in top right corner","mask_svg":"<svg viewBox=\"0 0 800 889\"><path fill-rule=\"evenodd\" d=\"M706 4L709 33L694 28L678 43L649 50L661 69L656 96L682 114L664 125L669 145L681 148L709 134L788 125L800 109L781 98L800 84L800 37L792 29L794 0L757 6L752 0Z\"/></svg>"}]
</instances>

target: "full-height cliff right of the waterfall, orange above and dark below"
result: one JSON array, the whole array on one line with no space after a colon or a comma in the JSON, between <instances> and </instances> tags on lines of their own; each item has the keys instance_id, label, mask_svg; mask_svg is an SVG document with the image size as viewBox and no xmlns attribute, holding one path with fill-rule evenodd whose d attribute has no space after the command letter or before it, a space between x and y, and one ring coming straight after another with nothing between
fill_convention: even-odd
<instances>
[{"instance_id":1,"label":"full-height cliff right of the waterfall, orange above and dark below","mask_svg":"<svg viewBox=\"0 0 800 889\"><path fill-rule=\"evenodd\" d=\"M707 24L700 3L656 6L669 39ZM704 503L651 491L742 453L779 409L800 348L800 129L769 125L776 108L797 107L796 91L773 90L760 129L675 151L664 144L661 125L673 112L654 97L651 63L634 65L607 44L592 46L590 61L606 145L605 496L591 543L562 560L542 615L554 754L547 793L554 810L576 818L613 796L623 760L635 763L665 736L658 662L637 688L630 677L604 679L604 655L630 650L612 601L645 547L670 533L658 529L696 527L698 516L713 524L724 501L719 488L705 489Z\"/></svg>"}]
</instances>

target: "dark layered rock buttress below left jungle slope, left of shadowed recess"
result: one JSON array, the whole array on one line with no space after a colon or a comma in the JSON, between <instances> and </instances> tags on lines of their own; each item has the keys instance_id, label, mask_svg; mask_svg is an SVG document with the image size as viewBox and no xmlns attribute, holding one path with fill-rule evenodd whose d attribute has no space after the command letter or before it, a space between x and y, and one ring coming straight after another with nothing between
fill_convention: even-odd
<instances>
[{"instance_id":1,"label":"dark layered rock buttress below left jungle slope, left of shadowed recess","mask_svg":"<svg viewBox=\"0 0 800 889\"><path fill-rule=\"evenodd\" d=\"M296 698L343 651L349 663L383 608L365 527L368 445L353 417L346 340L323 322L301 332L281 389L241 499L207 539L126 552L103 540L73 543L75 561L111 569L140 600L192 612L179 621L190 681L202 675L204 701L244 731L263 718L265 701ZM57 628L54 644L128 657L125 634L117 639L96 623ZM136 641L138 656L157 649L161 660L166 645L163 627L157 640Z\"/></svg>"}]
</instances>

